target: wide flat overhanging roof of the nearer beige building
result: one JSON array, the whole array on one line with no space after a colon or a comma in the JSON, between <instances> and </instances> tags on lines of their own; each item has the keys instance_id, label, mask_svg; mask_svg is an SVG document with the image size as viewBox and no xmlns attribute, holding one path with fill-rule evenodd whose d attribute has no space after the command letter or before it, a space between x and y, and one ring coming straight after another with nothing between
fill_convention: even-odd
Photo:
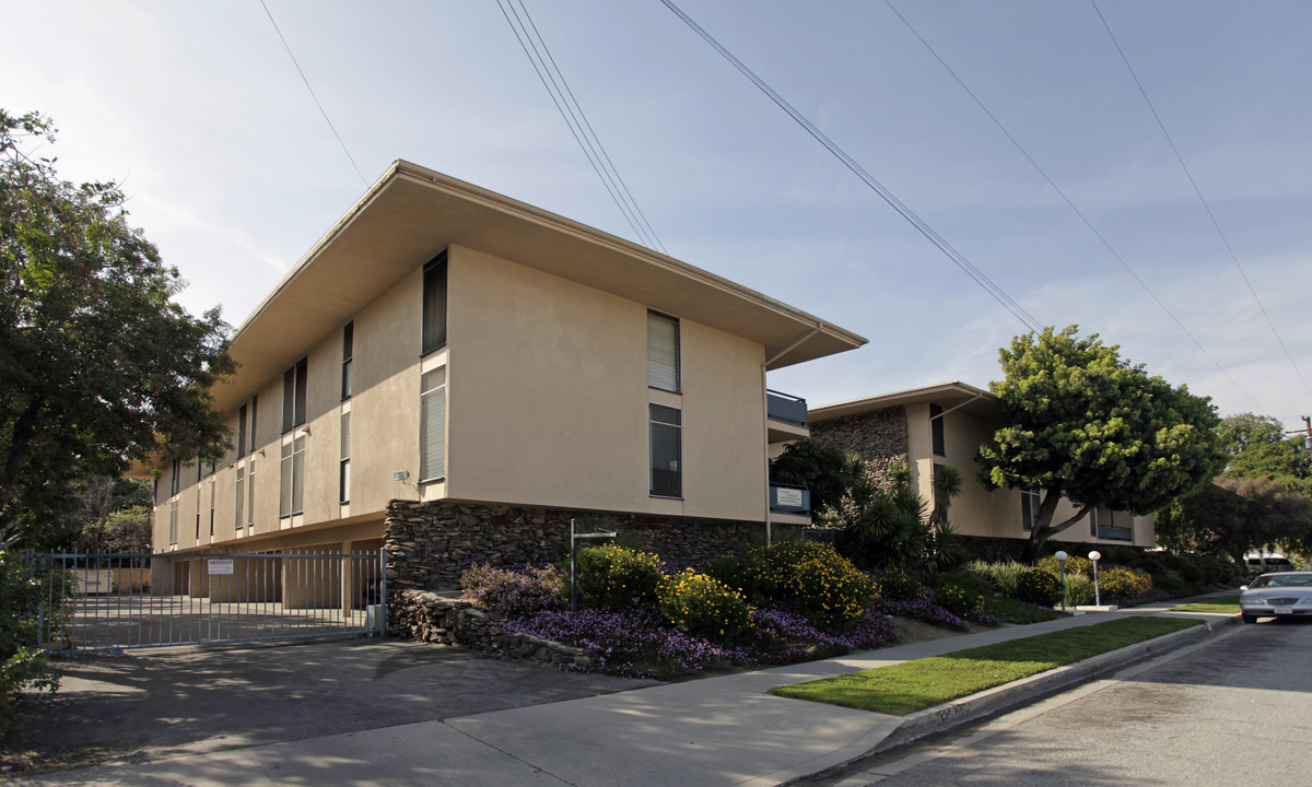
<instances>
[{"instance_id":1,"label":"wide flat overhanging roof of the nearer beige building","mask_svg":"<svg viewBox=\"0 0 1312 787\"><path fill-rule=\"evenodd\" d=\"M765 346L769 369L866 344L754 290L531 205L396 161L237 328L235 408L437 252L462 245Z\"/></svg>"}]
</instances>

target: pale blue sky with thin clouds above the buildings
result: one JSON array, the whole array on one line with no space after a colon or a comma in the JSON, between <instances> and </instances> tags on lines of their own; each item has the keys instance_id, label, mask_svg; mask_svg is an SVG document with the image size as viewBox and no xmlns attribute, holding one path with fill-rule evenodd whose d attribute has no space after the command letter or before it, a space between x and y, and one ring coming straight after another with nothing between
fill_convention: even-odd
<instances>
[{"instance_id":1,"label":"pale blue sky with thin clouds above the buildings","mask_svg":"<svg viewBox=\"0 0 1312 787\"><path fill-rule=\"evenodd\" d=\"M638 240L492 0L266 0L365 178L395 159ZM985 386L1025 327L659 0L525 0L664 247L871 340L782 370L812 404ZM890 5L680 7L1042 324L1077 323L1223 414L1312 392L1312 4L893 0L1198 349ZM0 106L234 325L366 184L258 0L9 4ZM1224 373L1218 369L1220 365Z\"/></svg>"}]
</instances>

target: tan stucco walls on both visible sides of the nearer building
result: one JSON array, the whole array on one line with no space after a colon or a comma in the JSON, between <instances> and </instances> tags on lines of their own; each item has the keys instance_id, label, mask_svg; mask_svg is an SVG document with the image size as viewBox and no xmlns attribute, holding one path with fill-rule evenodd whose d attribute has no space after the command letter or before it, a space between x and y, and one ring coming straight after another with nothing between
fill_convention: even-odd
<instances>
[{"instance_id":1,"label":"tan stucco walls on both visible sides of the nearer building","mask_svg":"<svg viewBox=\"0 0 1312 787\"><path fill-rule=\"evenodd\" d=\"M394 498L765 518L760 344L681 320L684 390L652 391L646 304L451 247L447 346L420 358L421 268L417 262L412 275L354 316L349 403L341 400L341 328L307 349L307 420L295 430L306 434L304 513L290 519L278 517L281 446L289 437L282 375L260 386L256 451L237 459L234 447L214 475L215 548L279 548L302 529L344 517L378 522ZM434 365L447 366L447 479L421 488L420 374ZM681 501L648 494L648 401L684 412ZM338 501L344 407L352 413L345 508ZM228 421L235 432L236 412ZM236 467L252 458L256 525L237 531ZM394 480L398 470L409 472L405 483ZM169 548L168 475L165 466L156 550ZM199 543L194 466L184 468L181 487L177 548L209 546L209 476L201 481Z\"/></svg>"}]
</instances>

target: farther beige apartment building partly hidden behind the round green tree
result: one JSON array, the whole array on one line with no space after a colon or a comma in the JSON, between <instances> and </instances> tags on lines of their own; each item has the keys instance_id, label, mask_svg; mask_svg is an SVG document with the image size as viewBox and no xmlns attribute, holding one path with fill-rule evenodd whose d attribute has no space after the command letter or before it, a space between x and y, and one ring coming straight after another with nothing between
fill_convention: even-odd
<instances>
[{"instance_id":1,"label":"farther beige apartment building partly hidden behind the round green tree","mask_svg":"<svg viewBox=\"0 0 1312 787\"><path fill-rule=\"evenodd\" d=\"M1026 539L1038 512L1039 493L1018 489L988 491L976 480L975 455L981 443L1004 425L997 397L988 391L953 382L844 401L810 411L811 435L855 451L878 468L892 463L911 470L913 487L933 500L935 464L956 467L963 489L951 501L950 519L962 535ZM1054 521L1075 513L1063 500ZM1061 542L1088 542L1152 547L1152 515L1096 509L1082 522L1056 535Z\"/></svg>"}]
</instances>

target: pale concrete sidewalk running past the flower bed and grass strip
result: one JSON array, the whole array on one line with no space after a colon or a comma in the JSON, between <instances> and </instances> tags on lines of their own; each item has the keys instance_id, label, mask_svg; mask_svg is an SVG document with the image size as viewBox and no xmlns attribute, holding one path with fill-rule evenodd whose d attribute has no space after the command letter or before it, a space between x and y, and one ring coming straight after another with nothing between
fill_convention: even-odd
<instances>
[{"instance_id":1,"label":"pale concrete sidewalk running past the flower bed and grass strip","mask_svg":"<svg viewBox=\"0 0 1312 787\"><path fill-rule=\"evenodd\" d=\"M413 784L779 784L1019 704L1148 655L1197 641L1236 616L1019 681L911 716L765 694L774 686L964 648L1162 613L1173 601L1084 614L840 658L551 704L230 749L143 765L35 777L30 784L197 787ZM1178 614L1178 613L1166 613Z\"/></svg>"}]
</instances>

